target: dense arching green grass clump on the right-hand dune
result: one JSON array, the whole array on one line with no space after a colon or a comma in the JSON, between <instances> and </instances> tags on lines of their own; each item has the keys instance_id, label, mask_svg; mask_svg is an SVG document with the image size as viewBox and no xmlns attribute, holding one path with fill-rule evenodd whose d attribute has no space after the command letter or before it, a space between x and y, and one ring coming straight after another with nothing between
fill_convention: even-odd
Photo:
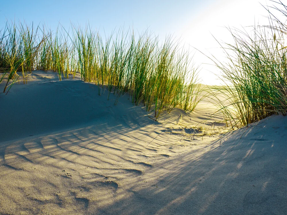
<instances>
[{"instance_id":1,"label":"dense arching green grass clump on the right-hand dune","mask_svg":"<svg viewBox=\"0 0 287 215\"><path fill-rule=\"evenodd\" d=\"M226 83L216 88L225 98L219 102L220 111L232 126L248 126L272 114L286 115L286 28L282 30L286 25L271 15L270 26L255 26L251 34L247 29L229 29L234 43L222 46L229 63L215 61Z\"/></svg>"}]
</instances>

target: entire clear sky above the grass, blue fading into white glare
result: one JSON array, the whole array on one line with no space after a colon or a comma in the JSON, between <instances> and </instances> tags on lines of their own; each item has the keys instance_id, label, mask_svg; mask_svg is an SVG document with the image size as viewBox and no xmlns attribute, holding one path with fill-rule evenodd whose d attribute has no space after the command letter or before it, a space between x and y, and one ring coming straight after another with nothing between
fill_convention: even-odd
<instances>
[{"instance_id":1,"label":"entire clear sky above the grass, blue fading into white glare","mask_svg":"<svg viewBox=\"0 0 287 215\"><path fill-rule=\"evenodd\" d=\"M260 5L272 5L262 0L11 0L0 4L0 27L8 20L21 20L34 24L45 23L55 30L73 23L103 29L109 34L114 28L133 26L139 32L147 27L160 38L167 34L181 38L186 48L193 47L218 56L221 51L216 40L230 41L224 26L241 28L254 23L267 24L263 17L267 11ZM212 36L213 35L213 36ZM217 84L214 67L202 63L210 61L194 51L195 64L201 64L203 83Z\"/></svg>"}]
</instances>

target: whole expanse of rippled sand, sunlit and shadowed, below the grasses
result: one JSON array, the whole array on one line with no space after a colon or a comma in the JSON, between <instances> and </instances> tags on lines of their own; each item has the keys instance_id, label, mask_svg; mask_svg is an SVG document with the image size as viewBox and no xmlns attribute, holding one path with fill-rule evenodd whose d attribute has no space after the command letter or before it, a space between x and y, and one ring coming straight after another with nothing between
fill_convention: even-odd
<instances>
[{"instance_id":1,"label":"whole expanse of rippled sand, sunlit and shadowed, below the grasses","mask_svg":"<svg viewBox=\"0 0 287 215\"><path fill-rule=\"evenodd\" d=\"M225 134L206 102L156 122L107 95L43 71L0 94L0 214L287 213L287 117Z\"/></svg>"}]
</instances>

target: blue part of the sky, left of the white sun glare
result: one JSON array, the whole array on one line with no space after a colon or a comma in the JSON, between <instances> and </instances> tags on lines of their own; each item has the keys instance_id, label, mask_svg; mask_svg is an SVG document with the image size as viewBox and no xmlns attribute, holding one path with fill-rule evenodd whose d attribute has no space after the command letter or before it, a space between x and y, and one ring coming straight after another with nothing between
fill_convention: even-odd
<instances>
[{"instance_id":1,"label":"blue part of the sky, left of the white sun glare","mask_svg":"<svg viewBox=\"0 0 287 215\"><path fill-rule=\"evenodd\" d=\"M79 3L80 2L80 3ZM157 34L174 33L182 20L196 17L206 9L211 0L159 0L159 1L5 1L0 5L2 24L6 20L20 19L27 23L45 22L52 29L60 22L69 26L70 21L110 32L119 26L134 26L141 31L147 27Z\"/></svg>"}]
</instances>

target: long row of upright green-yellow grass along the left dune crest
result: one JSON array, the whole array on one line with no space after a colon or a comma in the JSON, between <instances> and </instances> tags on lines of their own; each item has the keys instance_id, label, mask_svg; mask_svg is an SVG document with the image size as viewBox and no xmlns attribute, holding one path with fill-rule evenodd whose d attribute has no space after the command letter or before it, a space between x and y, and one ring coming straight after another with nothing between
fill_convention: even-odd
<instances>
[{"instance_id":1,"label":"long row of upright green-yellow grass along the left dune crest","mask_svg":"<svg viewBox=\"0 0 287 215\"><path fill-rule=\"evenodd\" d=\"M15 82L27 83L32 70L41 69L57 72L60 81L79 73L83 81L98 85L99 95L107 91L108 99L110 93L129 93L135 105L143 103L156 119L174 107L192 111L200 101L197 68L171 37L160 42L148 30L135 34L120 29L102 38L89 25L71 24L69 30L59 25L53 32L21 22L6 22L1 35L4 92Z\"/></svg>"}]
</instances>

